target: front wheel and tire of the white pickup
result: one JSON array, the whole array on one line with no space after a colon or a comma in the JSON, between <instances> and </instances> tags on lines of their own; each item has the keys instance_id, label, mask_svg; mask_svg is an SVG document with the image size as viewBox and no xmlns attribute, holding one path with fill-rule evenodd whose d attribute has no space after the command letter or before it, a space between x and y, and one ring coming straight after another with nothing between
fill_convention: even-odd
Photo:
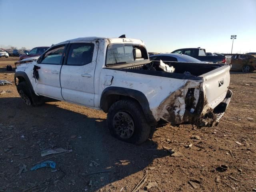
<instances>
[{"instance_id":1,"label":"front wheel and tire of the white pickup","mask_svg":"<svg viewBox=\"0 0 256 192\"><path fill-rule=\"evenodd\" d=\"M38 106L44 103L40 96L37 96L30 90L30 87L25 81L22 81L17 85L17 90L22 100L28 106Z\"/></svg>"}]
</instances>

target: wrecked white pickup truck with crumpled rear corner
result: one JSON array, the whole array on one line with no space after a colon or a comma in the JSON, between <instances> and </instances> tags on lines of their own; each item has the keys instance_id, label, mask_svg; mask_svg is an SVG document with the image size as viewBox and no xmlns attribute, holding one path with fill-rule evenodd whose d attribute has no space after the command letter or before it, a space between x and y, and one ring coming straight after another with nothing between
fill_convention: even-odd
<instances>
[{"instance_id":1,"label":"wrecked white pickup truck with crumpled rear corner","mask_svg":"<svg viewBox=\"0 0 256 192\"><path fill-rule=\"evenodd\" d=\"M142 40L86 37L16 62L14 80L27 105L53 98L101 109L108 113L110 133L134 144L144 142L160 119L174 125L216 125L232 96L230 65L168 65L175 71L150 61Z\"/></svg>"}]
</instances>

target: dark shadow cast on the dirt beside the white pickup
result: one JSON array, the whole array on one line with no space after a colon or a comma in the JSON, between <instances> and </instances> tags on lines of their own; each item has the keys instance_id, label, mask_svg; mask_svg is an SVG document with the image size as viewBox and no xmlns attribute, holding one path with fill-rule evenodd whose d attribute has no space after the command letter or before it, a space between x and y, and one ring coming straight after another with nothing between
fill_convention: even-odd
<instances>
[{"instance_id":1,"label":"dark shadow cast on the dirt beside the white pickup","mask_svg":"<svg viewBox=\"0 0 256 192\"><path fill-rule=\"evenodd\" d=\"M88 110L82 106L77 106L74 112L72 110L75 105L65 104L64 109L60 104L61 102L53 102L32 107L26 106L19 97L0 98L0 116L4 120L1 123L6 127L15 126L14 130L8 129L2 133L6 137L14 137L5 143L0 142L2 149L6 148L7 144L16 144L12 153L2 156L12 158L16 162L6 164L9 173L14 174L13 180L9 181L13 182L13 185L10 184L13 191L17 187L24 190L29 187L28 183L43 182L49 178L53 191L96 191L122 179L124 183L120 188L115 185L108 187L120 191L122 187L127 186L130 190L136 184L129 182L128 176L140 172L137 178L139 182L144 174L142 171L148 166L154 166L152 162L155 158L170 155L166 150L157 150L158 145L152 140L136 146L113 138L106 127L106 115L102 112ZM84 111L89 114L86 115ZM42 168L22 173L21 178L15 179L18 178L15 166L19 163L31 168L34 163L50 157L41 157L42 149L66 146L72 149L72 152L48 159L56 162L56 172L51 172L50 168ZM29 155L30 158L20 160L19 156L12 156L18 152L24 153L24 156ZM16 157L18 160L15 160Z\"/></svg>"}]
</instances>

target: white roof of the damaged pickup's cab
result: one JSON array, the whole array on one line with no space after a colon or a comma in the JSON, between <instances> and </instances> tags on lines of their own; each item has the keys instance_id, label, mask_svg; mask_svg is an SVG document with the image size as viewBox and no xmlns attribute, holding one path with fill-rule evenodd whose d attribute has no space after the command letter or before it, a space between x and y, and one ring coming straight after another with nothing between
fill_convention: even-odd
<instances>
[{"instance_id":1,"label":"white roof of the damaged pickup's cab","mask_svg":"<svg viewBox=\"0 0 256 192\"><path fill-rule=\"evenodd\" d=\"M139 39L133 39L133 38L106 38L106 37L80 37L75 39L66 40L64 42L60 42L58 44L63 44L65 42L75 42L75 41L97 41L97 40L108 40L110 43L124 43L124 42L130 42L135 44L143 44L144 42ZM58 45L55 44L55 45Z\"/></svg>"}]
</instances>

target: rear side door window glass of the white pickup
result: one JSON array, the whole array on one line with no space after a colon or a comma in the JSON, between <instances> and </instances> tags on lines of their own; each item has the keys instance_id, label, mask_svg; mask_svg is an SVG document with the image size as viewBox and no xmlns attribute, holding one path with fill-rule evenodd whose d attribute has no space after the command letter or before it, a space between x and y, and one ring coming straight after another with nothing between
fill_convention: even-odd
<instances>
[{"instance_id":1,"label":"rear side door window glass of the white pickup","mask_svg":"<svg viewBox=\"0 0 256 192\"><path fill-rule=\"evenodd\" d=\"M93 43L74 43L70 45L66 65L82 66L92 62Z\"/></svg>"}]
</instances>

